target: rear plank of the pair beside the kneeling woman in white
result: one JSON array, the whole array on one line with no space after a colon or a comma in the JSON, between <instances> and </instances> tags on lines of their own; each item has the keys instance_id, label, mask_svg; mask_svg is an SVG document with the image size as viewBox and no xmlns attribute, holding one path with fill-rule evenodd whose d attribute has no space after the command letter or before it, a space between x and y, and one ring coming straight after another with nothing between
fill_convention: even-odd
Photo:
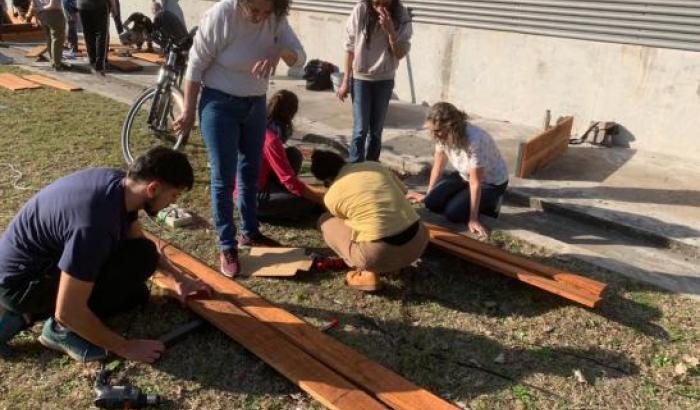
<instances>
[{"instance_id":1,"label":"rear plank of the pair beside the kneeling woman in white","mask_svg":"<svg viewBox=\"0 0 700 410\"><path fill-rule=\"evenodd\" d=\"M425 224L425 226L433 233L433 237L437 239L461 246L463 248L471 249L475 252L483 253L496 259L507 261L511 264L523 267L530 272L547 276L557 282L578 287L586 292L593 293L596 296L602 295L608 286L606 283L599 282L585 276L561 271L543 263L533 261L532 259L514 255L503 249L479 242L458 233L454 233L437 225Z\"/></svg>"}]
</instances>

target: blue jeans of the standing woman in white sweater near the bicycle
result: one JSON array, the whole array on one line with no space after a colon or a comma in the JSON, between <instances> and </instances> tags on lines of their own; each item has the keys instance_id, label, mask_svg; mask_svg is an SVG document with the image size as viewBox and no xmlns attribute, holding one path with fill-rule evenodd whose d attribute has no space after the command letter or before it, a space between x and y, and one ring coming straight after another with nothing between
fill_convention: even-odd
<instances>
[{"instance_id":1,"label":"blue jeans of the standing woman in white sweater near the bicycle","mask_svg":"<svg viewBox=\"0 0 700 410\"><path fill-rule=\"evenodd\" d=\"M219 248L228 250L237 245L233 223L236 178L241 231L246 236L260 232L256 196L265 140L265 96L236 97L204 87L199 120L211 164L211 206Z\"/></svg>"}]
</instances>

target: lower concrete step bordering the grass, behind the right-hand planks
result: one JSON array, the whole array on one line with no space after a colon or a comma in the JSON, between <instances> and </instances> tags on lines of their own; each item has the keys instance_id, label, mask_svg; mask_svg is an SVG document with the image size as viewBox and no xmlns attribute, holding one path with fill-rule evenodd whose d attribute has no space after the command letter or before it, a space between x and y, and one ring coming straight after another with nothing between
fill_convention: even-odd
<instances>
[{"instance_id":1,"label":"lower concrete step bordering the grass, behind the right-hand planks","mask_svg":"<svg viewBox=\"0 0 700 410\"><path fill-rule=\"evenodd\" d=\"M466 234L464 226L450 224L425 209L421 217ZM485 218L485 223L559 257L577 259L700 301L700 261L660 248L646 238L510 205L501 208L498 219Z\"/></svg>"}]
</instances>

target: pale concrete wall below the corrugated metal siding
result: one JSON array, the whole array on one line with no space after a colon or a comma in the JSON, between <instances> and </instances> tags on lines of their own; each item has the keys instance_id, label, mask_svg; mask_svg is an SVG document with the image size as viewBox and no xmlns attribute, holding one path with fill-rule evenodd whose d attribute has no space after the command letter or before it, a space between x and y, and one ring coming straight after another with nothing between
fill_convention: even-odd
<instances>
[{"instance_id":1,"label":"pale concrete wall below the corrugated metal siding","mask_svg":"<svg viewBox=\"0 0 700 410\"><path fill-rule=\"evenodd\" d=\"M188 26L211 2L179 4ZM144 0L122 0L123 14ZM145 6L140 6L141 8ZM310 58L342 65L345 17L292 12ZM396 81L402 100L448 100L481 116L541 126L573 114L575 132L616 121L636 149L700 155L700 53L415 24L410 59Z\"/></svg>"}]
</instances>

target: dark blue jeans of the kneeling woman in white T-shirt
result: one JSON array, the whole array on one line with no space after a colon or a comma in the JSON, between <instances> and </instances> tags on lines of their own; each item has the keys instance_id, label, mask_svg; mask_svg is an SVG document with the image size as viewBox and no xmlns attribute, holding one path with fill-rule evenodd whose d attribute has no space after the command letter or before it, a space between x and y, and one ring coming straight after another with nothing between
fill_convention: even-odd
<instances>
[{"instance_id":1,"label":"dark blue jeans of the kneeling woman in white T-shirt","mask_svg":"<svg viewBox=\"0 0 700 410\"><path fill-rule=\"evenodd\" d=\"M500 202L508 182L501 185L481 184L479 213L498 218ZM459 173L445 175L425 197L425 207L442 214L450 222L467 223L469 220L469 183Z\"/></svg>"}]
</instances>

